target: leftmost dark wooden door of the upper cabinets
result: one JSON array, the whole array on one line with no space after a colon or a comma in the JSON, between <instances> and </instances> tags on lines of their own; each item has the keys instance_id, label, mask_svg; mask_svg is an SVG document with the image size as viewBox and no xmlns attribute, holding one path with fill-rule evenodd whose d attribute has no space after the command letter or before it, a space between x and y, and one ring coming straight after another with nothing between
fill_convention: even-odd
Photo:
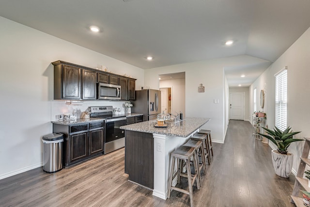
<instances>
[{"instance_id":1,"label":"leftmost dark wooden door of the upper cabinets","mask_svg":"<svg viewBox=\"0 0 310 207\"><path fill-rule=\"evenodd\" d=\"M74 66L63 65L62 68L62 98L81 98L81 69Z\"/></svg>"}]
</instances>

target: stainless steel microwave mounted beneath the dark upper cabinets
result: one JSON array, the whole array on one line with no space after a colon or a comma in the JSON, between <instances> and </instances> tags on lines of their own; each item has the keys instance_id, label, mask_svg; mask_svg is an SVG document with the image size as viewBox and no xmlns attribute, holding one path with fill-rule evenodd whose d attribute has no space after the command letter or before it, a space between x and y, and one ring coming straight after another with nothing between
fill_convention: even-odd
<instances>
[{"instance_id":1,"label":"stainless steel microwave mounted beneath the dark upper cabinets","mask_svg":"<svg viewBox=\"0 0 310 207\"><path fill-rule=\"evenodd\" d=\"M107 83L98 83L98 99L121 99L121 86Z\"/></svg>"}]
</instances>

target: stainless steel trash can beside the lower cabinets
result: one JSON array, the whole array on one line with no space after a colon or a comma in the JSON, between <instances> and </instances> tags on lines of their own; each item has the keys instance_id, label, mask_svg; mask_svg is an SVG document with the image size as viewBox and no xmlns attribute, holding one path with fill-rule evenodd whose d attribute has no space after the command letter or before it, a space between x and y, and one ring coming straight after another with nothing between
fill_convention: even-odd
<instances>
[{"instance_id":1,"label":"stainless steel trash can beside the lower cabinets","mask_svg":"<svg viewBox=\"0 0 310 207\"><path fill-rule=\"evenodd\" d=\"M56 173L62 169L63 134L53 133L42 137L43 142L43 170Z\"/></svg>"}]
</instances>

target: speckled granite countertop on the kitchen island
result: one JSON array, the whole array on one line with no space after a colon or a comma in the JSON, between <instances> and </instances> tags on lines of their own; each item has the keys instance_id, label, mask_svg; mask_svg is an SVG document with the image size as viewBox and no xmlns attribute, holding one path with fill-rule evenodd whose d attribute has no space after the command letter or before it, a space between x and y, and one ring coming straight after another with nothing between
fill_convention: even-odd
<instances>
[{"instance_id":1,"label":"speckled granite countertop on the kitchen island","mask_svg":"<svg viewBox=\"0 0 310 207\"><path fill-rule=\"evenodd\" d=\"M157 121L151 120L131 125L125 125L120 128L130 131L164 134L176 137L188 137L191 133L202 127L202 125L207 123L209 120L209 118L186 117L180 122L168 124L167 128L156 128L154 127L154 125L157 123Z\"/></svg>"}]
</instances>

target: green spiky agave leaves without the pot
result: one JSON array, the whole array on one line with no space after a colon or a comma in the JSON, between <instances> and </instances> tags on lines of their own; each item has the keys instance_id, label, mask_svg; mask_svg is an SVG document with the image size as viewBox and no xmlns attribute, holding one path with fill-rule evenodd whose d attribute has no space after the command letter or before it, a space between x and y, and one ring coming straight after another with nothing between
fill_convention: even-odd
<instances>
[{"instance_id":1,"label":"green spiky agave leaves without the pot","mask_svg":"<svg viewBox=\"0 0 310 207\"><path fill-rule=\"evenodd\" d=\"M290 146L291 143L297 141L303 141L301 139L293 139L293 135L300 133L300 131L292 132L291 128L287 127L284 131L281 131L278 127L275 127L273 130L262 127L267 131L268 135L260 134L261 136L267 138L271 142L275 143L278 147L278 152L280 154L287 154L287 147ZM271 135L271 136L269 136Z\"/></svg>"}]
</instances>

